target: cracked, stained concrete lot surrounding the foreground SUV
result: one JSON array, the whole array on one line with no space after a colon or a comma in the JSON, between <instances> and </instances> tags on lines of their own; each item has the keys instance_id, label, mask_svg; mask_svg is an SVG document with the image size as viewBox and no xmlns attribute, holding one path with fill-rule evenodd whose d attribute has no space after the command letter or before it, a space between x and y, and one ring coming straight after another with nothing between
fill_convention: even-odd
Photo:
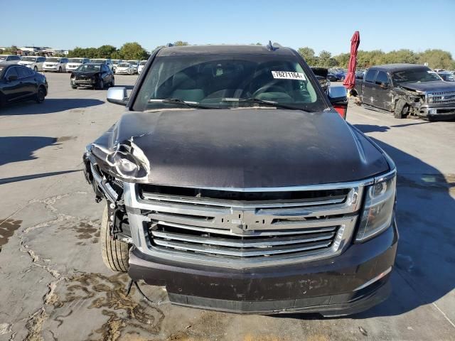
<instances>
[{"instance_id":1,"label":"cracked, stained concrete lot surrounding the foreground SUV","mask_svg":"<svg viewBox=\"0 0 455 341\"><path fill-rule=\"evenodd\" d=\"M103 209L83 178L86 144L122 107L106 90L46 74L45 103L0 110L0 340L455 340L455 122L350 106L348 121L397 163L400 229L392 296L347 318L234 315L167 302L102 264ZM117 76L132 89L135 76Z\"/></svg>"}]
</instances>

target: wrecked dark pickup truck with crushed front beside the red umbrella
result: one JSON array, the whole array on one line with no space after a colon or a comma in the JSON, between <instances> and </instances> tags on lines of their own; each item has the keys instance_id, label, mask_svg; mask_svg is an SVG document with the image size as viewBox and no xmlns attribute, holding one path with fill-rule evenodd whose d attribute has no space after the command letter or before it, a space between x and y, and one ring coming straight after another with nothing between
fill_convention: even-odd
<instances>
[{"instance_id":1,"label":"wrecked dark pickup truck with crushed front beside the red umbrella","mask_svg":"<svg viewBox=\"0 0 455 341\"><path fill-rule=\"evenodd\" d=\"M351 94L365 107L393 112L397 119L455 118L455 85L424 65L370 67Z\"/></svg>"}]
</instances>

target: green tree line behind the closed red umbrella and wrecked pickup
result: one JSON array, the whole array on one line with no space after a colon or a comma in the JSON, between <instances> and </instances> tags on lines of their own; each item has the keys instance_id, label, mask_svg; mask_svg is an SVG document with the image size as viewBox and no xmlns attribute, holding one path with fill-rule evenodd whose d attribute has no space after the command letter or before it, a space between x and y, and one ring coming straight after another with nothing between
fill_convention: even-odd
<instances>
[{"instance_id":1,"label":"green tree line behind the closed red umbrella and wrecked pickup","mask_svg":"<svg viewBox=\"0 0 455 341\"><path fill-rule=\"evenodd\" d=\"M331 55L330 52L322 50L319 55L314 53L312 48L299 48L298 52L311 66L318 67L343 67L347 68L349 63L350 53L340 53L339 55ZM358 50L357 67L359 69L370 67L373 65L391 64L391 63L411 63L424 64L432 69L455 70L455 60L452 59L451 53L432 49L424 50L423 52L414 52L412 50L392 50L383 52L382 50L364 51Z\"/></svg>"}]
</instances>

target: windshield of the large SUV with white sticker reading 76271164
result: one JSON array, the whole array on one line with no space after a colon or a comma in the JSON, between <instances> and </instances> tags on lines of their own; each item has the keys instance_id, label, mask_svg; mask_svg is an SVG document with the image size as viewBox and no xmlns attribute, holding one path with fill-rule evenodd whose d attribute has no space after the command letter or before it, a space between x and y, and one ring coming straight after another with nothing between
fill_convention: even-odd
<instances>
[{"instance_id":1,"label":"windshield of the large SUV with white sticker reading 76271164","mask_svg":"<svg viewBox=\"0 0 455 341\"><path fill-rule=\"evenodd\" d=\"M257 107L259 101L295 109L326 109L293 55L176 55L157 57L133 109L182 105L159 99L183 99L213 108ZM240 100L239 100L240 99ZM256 99L253 100L253 99Z\"/></svg>"}]
</instances>

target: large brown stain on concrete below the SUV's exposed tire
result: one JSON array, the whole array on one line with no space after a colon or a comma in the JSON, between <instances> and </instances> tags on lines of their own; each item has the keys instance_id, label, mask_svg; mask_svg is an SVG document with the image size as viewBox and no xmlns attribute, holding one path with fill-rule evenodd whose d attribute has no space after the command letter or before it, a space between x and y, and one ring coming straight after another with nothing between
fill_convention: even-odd
<instances>
[{"instance_id":1,"label":"large brown stain on concrete below the SUV's exposed tire","mask_svg":"<svg viewBox=\"0 0 455 341\"><path fill-rule=\"evenodd\" d=\"M88 340L140 340L137 338L139 332L146 335L158 334L164 313L159 308L136 301L133 298L134 288L130 296L125 296L127 281L126 274L109 277L101 274L77 274L66 278L64 293L58 294L63 299L57 298L53 303L54 320L59 327L66 323L67 318L68 323L71 323L73 310L67 310L76 302L77 305L86 305L87 309L99 309L102 315L107 316L107 322L93 330ZM60 314L60 309L65 310L65 314Z\"/></svg>"}]
</instances>

